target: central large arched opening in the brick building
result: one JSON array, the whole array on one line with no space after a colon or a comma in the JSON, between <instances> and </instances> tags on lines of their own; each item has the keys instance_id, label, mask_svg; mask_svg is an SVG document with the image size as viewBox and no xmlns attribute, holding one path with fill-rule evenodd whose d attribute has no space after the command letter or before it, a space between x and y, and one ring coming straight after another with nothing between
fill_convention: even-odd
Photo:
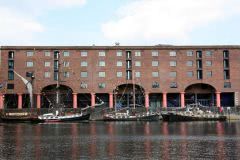
<instances>
[{"instance_id":1,"label":"central large arched opening in the brick building","mask_svg":"<svg viewBox=\"0 0 240 160\"><path fill-rule=\"evenodd\" d=\"M139 108L144 107L144 89L136 84L122 84L117 86L114 91L115 109L121 108ZM135 99L135 103L134 103Z\"/></svg>"}]
</instances>

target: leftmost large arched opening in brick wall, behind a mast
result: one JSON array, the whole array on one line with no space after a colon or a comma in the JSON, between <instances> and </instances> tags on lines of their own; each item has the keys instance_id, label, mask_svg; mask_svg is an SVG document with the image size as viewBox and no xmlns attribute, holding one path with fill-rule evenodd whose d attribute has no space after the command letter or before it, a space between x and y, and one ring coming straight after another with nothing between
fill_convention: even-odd
<instances>
[{"instance_id":1,"label":"leftmost large arched opening in brick wall, behind a mast","mask_svg":"<svg viewBox=\"0 0 240 160\"><path fill-rule=\"evenodd\" d=\"M59 91L59 97L57 92ZM42 89L42 106L41 108L52 108L54 106L60 105L65 108L72 108L72 89L65 85L49 85ZM57 107L60 107L57 106Z\"/></svg>"}]
</instances>

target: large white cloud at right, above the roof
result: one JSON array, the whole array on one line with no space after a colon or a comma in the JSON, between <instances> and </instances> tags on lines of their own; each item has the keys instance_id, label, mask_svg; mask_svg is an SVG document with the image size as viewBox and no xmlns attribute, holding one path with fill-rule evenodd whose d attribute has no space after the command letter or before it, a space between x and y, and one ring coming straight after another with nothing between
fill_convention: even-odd
<instances>
[{"instance_id":1,"label":"large white cloud at right, above the roof","mask_svg":"<svg viewBox=\"0 0 240 160\"><path fill-rule=\"evenodd\" d=\"M106 38L127 43L188 39L194 29L239 14L238 0L136 0L102 25Z\"/></svg>"}]
</instances>

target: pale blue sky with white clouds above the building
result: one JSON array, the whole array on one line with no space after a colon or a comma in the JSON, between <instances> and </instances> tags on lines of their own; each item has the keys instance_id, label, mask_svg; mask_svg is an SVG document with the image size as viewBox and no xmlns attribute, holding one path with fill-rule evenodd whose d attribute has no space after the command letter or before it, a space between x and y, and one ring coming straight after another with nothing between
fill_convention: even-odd
<instances>
[{"instance_id":1,"label":"pale blue sky with white clouds above the building","mask_svg":"<svg viewBox=\"0 0 240 160\"><path fill-rule=\"evenodd\" d=\"M238 45L240 0L0 0L0 45Z\"/></svg>"}]
</instances>

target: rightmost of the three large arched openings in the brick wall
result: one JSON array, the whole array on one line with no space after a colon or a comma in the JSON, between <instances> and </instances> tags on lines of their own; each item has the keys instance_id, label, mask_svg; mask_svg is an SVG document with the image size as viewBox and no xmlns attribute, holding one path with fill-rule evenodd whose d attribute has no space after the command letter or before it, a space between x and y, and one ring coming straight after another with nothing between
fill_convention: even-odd
<instances>
[{"instance_id":1,"label":"rightmost of the three large arched openings in the brick wall","mask_svg":"<svg viewBox=\"0 0 240 160\"><path fill-rule=\"evenodd\" d=\"M201 104L203 106L215 106L216 89L205 83L197 83L185 89L185 104Z\"/></svg>"}]
</instances>

